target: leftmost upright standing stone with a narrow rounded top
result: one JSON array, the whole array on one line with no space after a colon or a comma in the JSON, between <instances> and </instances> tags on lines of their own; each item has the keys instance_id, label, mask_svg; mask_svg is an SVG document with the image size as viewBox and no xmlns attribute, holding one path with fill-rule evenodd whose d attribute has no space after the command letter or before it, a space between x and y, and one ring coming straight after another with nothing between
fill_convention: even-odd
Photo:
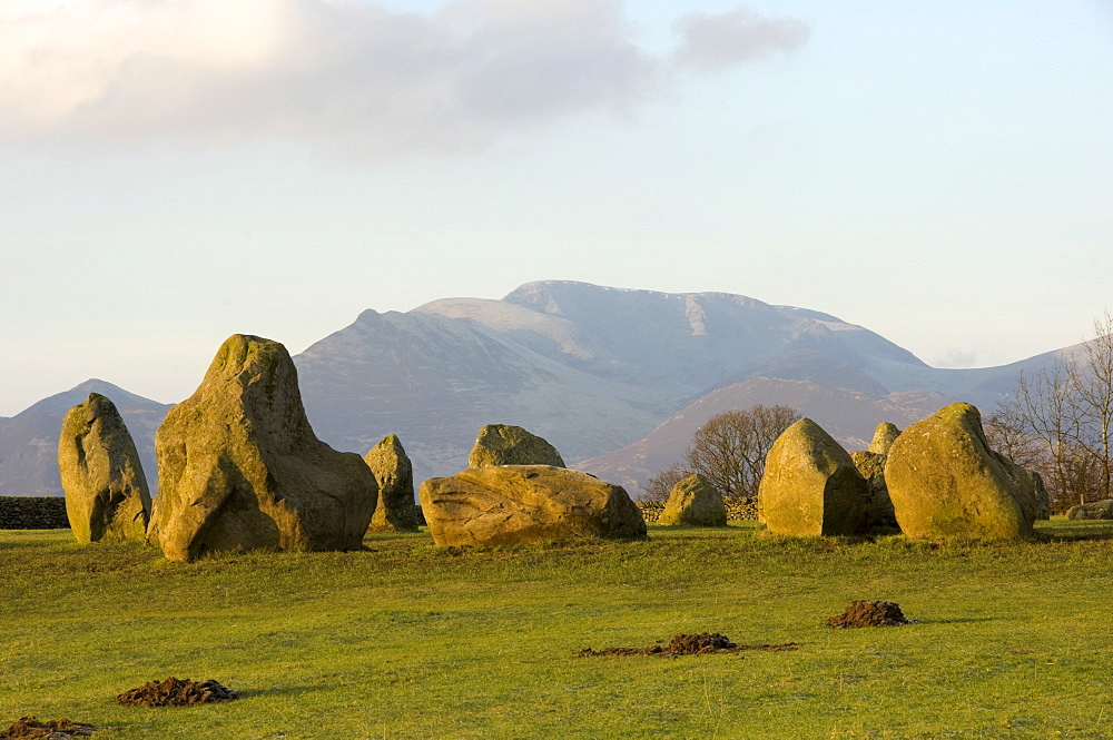
<instances>
[{"instance_id":1,"label":"leftmost upright standing stone with a narrow rounded top","mask_svg":"<svg viewBox=\"0 0 1113 740\"><path fill-rule=\"evenodd\" d=\"M142 540L150 492L116 405L99 393L69 410L58 438L66 515L78 542Z\"/></svg>"}]
</instances>

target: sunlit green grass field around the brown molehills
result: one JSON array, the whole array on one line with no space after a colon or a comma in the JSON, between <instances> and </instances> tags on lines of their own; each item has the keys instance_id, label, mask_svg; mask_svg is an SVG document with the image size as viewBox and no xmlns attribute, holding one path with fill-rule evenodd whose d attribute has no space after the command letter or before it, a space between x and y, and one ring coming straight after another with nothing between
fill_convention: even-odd
<instances>
[{"instance_id":1,"label":"sunlit green grass field around the brown molehills","mask_svg":"<svg viewBox=\"0 0 1113 740\"><path fill-rule=\"evenodd\" d=\"M1113 737L1113 526L1013 544L759 537L650 526L641 543L171 563L68 530L0 532L0 730L93 738ZM854 599L919 624L823 626ZM795 652L577 658L674 632ZM216 679L225 704L117 693Z\"/></svg>"}]
</instances>

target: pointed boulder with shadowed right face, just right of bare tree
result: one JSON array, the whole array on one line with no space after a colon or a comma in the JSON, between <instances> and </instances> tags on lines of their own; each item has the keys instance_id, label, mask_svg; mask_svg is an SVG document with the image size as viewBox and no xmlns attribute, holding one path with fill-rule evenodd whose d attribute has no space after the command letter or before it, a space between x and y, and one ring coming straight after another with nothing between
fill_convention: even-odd
<instances>
[{"instance_id":1,"label":"pointed boulder with shadowed right face, just right of bare tree","mask_svg":"<svg viewBox=\"0 0 1113 740\"><path fill-rule=\"evenodd\" d=\"M758 486L758 522L774 534L854 534L866 524L866 480L810 418L777 437Z\"/></svg>"}]
</instances>

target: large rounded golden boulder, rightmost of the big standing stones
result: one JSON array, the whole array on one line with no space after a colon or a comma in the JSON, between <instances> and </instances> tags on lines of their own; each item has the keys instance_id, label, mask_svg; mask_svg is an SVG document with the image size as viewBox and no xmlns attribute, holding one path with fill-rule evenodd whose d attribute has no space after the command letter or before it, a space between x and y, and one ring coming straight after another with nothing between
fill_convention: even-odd
<instances>
[{"instance_id":1,"label":"large rounded golden boulder, rightmost of the big standing stones","mask_svg":"<svg viewBox=\"0 0 1113 740\"><path fill-rule=\"evenodd\" d=\"M910 537L1015 539L1032 534L1032 477L989 450L982 415L965 403L916 422L893 443L885 482Z\"/></svg>"}]
</instances>

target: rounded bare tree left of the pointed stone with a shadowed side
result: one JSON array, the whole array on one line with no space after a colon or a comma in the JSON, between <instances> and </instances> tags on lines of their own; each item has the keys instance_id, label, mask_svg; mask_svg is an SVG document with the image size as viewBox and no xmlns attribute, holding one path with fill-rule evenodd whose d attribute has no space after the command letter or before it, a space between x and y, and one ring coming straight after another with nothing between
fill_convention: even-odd
<instances>
[{"instance_id":1,"label":"rounded bare tree left of the pointed stone with a shadowed side","mask_svg":"<svg viewBox=\"0 0 1113 740\"><path fill-rule=\"evenodd\" d=\"M756 496L769 448L799 418L798 411L781 405L723 412L697 430L681 465L725 496Z\"/></svg>"}]
</instances>

